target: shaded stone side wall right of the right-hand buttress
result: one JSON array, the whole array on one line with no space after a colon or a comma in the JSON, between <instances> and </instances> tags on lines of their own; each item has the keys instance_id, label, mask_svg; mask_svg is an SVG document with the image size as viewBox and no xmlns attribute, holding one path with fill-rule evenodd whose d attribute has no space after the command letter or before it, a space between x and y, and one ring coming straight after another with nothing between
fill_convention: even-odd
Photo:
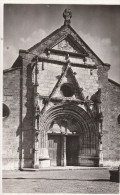
<instances>
[{"instance_id":1,"label":"shaded stone side wall right of the right-hand buttress","mask_svg":"<svg viewBox=\"0 0 120 195\"><path fill-rule=\"evenodd\" d=\"M120 164L120 124L117 118L120 114L120 85L109 80L108 83L108 162L105 165Z\"/></svg>"}]
</instances>

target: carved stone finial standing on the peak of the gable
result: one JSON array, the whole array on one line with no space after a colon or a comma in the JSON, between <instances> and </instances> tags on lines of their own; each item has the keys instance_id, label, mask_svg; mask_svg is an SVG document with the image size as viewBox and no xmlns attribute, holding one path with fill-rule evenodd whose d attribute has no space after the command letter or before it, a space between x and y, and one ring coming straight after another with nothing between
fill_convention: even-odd
<instances>
[{"instance_id":1,"label":"carved stone finial standing on the peak of the gable","mask_svg":"<svg viewBox=\"0 0 120 195\"><path fill-rule=\"evenodd\" d=\"M70 9L65 9L63 12L63 18L64 20L64 25L70 25L71 24L71 18L72 18L72 12Z\"/></svg>"}]
</instances>

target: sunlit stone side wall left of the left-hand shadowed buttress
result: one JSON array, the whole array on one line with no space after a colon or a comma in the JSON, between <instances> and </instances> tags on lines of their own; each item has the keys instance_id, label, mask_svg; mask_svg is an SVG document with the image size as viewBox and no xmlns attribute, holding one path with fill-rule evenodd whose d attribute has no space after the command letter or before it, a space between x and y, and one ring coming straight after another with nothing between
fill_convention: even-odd
<instances>
[{"instance_id":1,"label":"sunlit stone side wall left of the left-hand shadowed buttress","mask_svg":"<svg viewBox=\"0 0 120 195\"><path fill-rule=\"evenodd\" d=\"M9 116L3 118L3 169L18 169L20 158L20 69L3 75L3 103Z\"/></svg>"}]
</instances>

